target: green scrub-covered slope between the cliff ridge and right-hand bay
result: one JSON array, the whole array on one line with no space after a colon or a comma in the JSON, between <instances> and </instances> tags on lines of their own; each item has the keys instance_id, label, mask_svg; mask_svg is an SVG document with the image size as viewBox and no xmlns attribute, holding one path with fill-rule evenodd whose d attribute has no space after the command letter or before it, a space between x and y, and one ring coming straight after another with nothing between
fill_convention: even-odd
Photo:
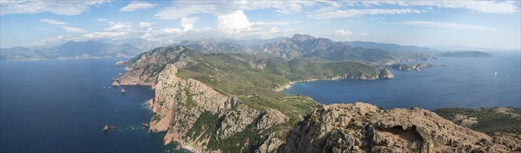
<instances>
[{"instance_id":1,"label":"green scrub-covered slope between the cliff ridge and right-hand bay","mask_svg":"<svg viewBox=\"0 0 521 153\"><path fill-rule=\"evenodd\" d=\"M201 54L186 49L197 64L179 70L181 78L196 79L227 95L259 94L282 97L273 91L291 81L331 79L346 75L377 77L383 70L358 61L324 62L298 58L279 61L252 54Z\"/></svg>"}]
</instances>

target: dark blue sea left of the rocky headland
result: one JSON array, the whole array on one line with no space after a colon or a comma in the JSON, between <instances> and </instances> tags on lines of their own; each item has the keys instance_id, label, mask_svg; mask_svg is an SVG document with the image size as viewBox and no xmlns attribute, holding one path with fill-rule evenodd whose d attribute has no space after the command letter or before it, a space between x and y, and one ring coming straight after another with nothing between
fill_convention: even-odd
<instances>
[{"instance_id":1,"label":"dark blue sea left of the rocky headland","mask_svg":"<svg viewBox=\"0 0 521 153\"><path fill-rule=\"evenodd\" d=\"M110 86L121 58L0 62L0 152L167 152L149 134L147 86ZM104 132L105 124L116 131Z\"/></svg>"}]
</instances>

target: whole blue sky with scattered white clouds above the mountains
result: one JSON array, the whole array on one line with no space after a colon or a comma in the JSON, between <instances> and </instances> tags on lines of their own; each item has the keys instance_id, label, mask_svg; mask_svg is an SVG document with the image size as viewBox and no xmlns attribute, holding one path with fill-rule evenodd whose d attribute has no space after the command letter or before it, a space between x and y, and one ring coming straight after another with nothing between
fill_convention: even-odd
<instances>
[{"instance_id":1,"label":"whole blue sky with scattered white clouds above the mountains","mask_svg":"<svg viewBox=\"0 0 521 153\"><path fill-rule=\"evenodd\" d=\"M521 48L520 1L0 1L0 47L269 39Z\"/></svg>"}]
</instances>

